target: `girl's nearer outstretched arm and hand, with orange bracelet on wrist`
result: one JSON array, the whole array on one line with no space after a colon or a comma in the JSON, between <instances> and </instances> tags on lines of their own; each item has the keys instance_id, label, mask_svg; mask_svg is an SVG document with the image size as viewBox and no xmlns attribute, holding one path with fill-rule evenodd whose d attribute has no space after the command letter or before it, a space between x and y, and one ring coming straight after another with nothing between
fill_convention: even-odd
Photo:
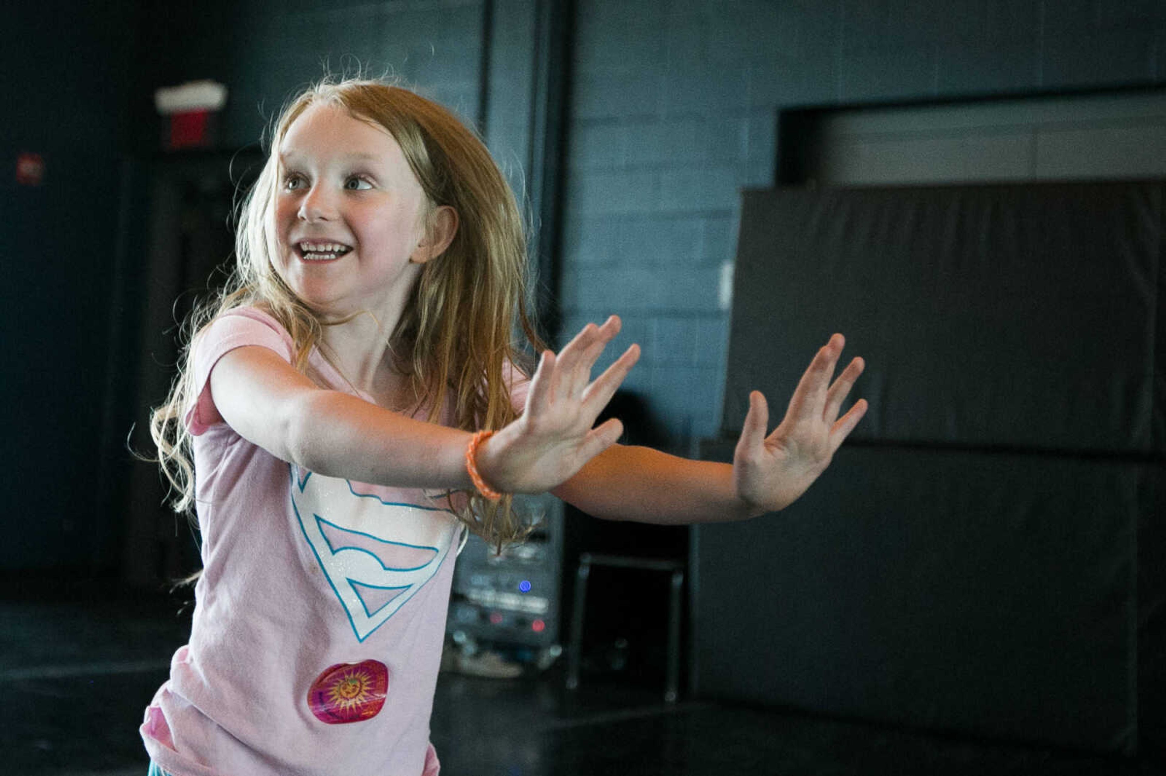
<instances>
[{"instance_id":1,"label":"girl's nearer outstretched arm and hand, with orange bracelet on wrist","mask_svg":"<svg viewBox=\"0 0 1166 776\"><path fill-rule=\"evenodd\" d=\"M619 437L618 421L591 426L639 348L630 347L590 379L619 325L614 316L603 326L590 324L557 355L542 354L522 417L478 449L487 484L512 493L545 492ZM240 436L310 471L400 487L473 487L464 457L469 432L322 389L266 347L226 353L211 372L210 386L218 411Z\"/></svg>"}]
</instances>

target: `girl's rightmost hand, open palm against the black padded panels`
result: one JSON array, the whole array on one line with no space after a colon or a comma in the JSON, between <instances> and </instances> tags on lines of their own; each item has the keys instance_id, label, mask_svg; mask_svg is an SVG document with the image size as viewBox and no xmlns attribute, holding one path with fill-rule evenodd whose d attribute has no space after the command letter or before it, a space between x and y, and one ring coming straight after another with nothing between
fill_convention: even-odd
<instances>
[{"instance_id":1,"label":"girl's rightmost hand, open palm against the black padded panels","mask_svg":"<svg viewBox=\"0 0 1166 776\"><path fill-rule=\"evenodd\" d=\"M864 367L863 360L855 358L830 383L844 345L842 334L835 334L817 352L798 382L785 418L770 436L765 436L770 419L765 396L757 390L750 394L732 474L737 498L751 514L793 503L826 471L835 451L866 414L866 400L859 398L838 417Z\"/></svg>"}]
</instances>

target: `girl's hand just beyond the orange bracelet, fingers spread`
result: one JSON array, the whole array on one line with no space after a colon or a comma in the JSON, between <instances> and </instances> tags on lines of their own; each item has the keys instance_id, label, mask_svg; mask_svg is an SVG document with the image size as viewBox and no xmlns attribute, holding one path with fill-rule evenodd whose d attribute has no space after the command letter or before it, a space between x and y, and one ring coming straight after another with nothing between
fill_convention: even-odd
<instances>
[{"instance_id":1,"label":"girl's hand just beyond the orange bracelet, fingers spread","mask_svg":"<svg viewBox=\"0 0 1166 776\"><path fill-rule=\"evenodd\" d=\"M478 447L478 471L504 493L543 493L570 479L624 432L617 418L592 428L599 412L640 357L628 347L591 380L591 367L619 333L611 316L602 326L584 326L559 355L543 351L531 379L526 408Z\"/></svg>"}]
</instances>

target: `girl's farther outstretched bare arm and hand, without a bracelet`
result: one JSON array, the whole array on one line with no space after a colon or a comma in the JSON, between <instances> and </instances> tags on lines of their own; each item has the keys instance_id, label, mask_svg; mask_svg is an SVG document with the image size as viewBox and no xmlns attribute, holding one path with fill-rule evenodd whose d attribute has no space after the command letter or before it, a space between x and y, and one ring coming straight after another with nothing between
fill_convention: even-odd
<instances>
[{"instance_id":1,"label":"girl's farther outstretched bare arm and hand, without a bracelet","mask_svg":"<svg viewBox=\"0 0 1166 776\"><path fill-rule=\"evenodd\" d=\"M655 523L739 520L789 506L866 412L866 401L858 400L838 417L864 367L856 358L831 382L844 345L835 334L817 352L772 433L765 396L750 394L731 466L616 445L554 493L598 517Z\"/></svg>"}]
</instances>

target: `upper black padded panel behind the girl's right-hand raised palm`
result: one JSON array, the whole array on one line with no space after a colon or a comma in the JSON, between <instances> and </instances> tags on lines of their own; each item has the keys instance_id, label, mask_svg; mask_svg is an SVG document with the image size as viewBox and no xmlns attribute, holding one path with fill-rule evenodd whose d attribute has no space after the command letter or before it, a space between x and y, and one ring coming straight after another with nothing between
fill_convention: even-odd
<instances>
[{"instance_id":1,"label":"upper black padded panel behind the girl's right-hand raised palm","mask_svg":"<svg viewBox=\"0 0 1166 776\"><path fill-rule=\"evenodd\" d=\"M753 388L780 417L842 331L869 364L855 395L871 412L856 438L1166 450L1154 336L1164 186L746 192L725 432Z\"/></svg>"}]
</instances>

